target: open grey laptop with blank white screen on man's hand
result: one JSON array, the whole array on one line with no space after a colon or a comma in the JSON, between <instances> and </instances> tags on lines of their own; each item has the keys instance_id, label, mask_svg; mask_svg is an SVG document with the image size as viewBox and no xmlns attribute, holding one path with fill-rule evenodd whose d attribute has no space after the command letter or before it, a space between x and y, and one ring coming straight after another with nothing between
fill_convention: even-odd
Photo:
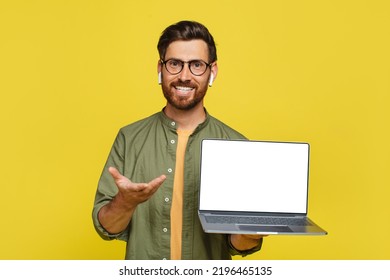
<instances>
[{"instance_id":1,"label":"open grey laptop with blank white screen on man's hand","mask_svg":"<svg viewBox=\"0 0 390 280\"><path fill-rule=\"evenodd\" d=\"M204 139L199 218L208 233L308 234L308 143Z\"/></svg>"}]
</instances>

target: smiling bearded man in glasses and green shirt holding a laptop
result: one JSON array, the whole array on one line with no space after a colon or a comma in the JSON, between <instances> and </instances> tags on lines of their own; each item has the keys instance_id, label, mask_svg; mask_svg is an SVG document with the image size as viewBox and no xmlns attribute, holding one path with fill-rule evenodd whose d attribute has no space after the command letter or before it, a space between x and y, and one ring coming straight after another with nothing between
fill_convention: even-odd
<instances>
[{"instance_id":1,"label":"smiling bearded man in glasses and green shirt holding a laptop","mask_svg":"<svg viewBox=\"0 0 390 280\"><path fill-rule=\"evenodd\" d=\"M204 108L218 73L212 35L182 21L157 47L167 103L119 131L96 192L96 230L126 241L126 259L230 259L260 250L262 236L207 234L197 216L200 141L244 138Z\"/></svg>"}]
</instances>

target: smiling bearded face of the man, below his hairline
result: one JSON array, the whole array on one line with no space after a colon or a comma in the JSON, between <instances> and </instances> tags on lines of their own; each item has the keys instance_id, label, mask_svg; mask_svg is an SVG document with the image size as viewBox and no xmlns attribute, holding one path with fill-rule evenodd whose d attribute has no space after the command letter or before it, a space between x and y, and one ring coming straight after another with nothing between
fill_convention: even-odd
<instances>
[{"instance_id":1,"label":"smiling bearded face of the man, below his hairline","mask_svg":"<svg viewBox=\"0 0 390 280\"><path fill-rule=\"evenodd\" d=\"M206 42L203 40L175 41L166 51L164 60L177 59L181 61L203 60L209 62ZM217 66L208 68L201 76L191 73L186 63L183 70L175 75L170 74L164 65L159 64L162 72L162 90L168 104L176 109L190 110L197 105L203 106L211 72L216 76Z\"/></svg>"}]
</instances>

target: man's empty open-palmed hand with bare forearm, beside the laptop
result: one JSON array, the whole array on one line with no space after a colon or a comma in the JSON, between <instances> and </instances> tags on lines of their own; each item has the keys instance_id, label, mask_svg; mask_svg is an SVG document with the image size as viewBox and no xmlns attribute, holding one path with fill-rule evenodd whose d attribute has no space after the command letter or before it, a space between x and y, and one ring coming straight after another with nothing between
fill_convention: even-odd
<instances>
[{"instance_id":1,"label":"man's empty open-palmed hand with bare forearm, beside the laptop","mask_svg":"<svg viewBox=\"0 0 390 280\"><path fill-rule=\"evenodd\" d=\"M165 181L161 175L149 183L133 183L119 171L108 169L118 188L117 195L103 206L98 214L99 222L109 233L116 234L126 229L138 204L148 200Z\"/></svg>"}]
</instances>

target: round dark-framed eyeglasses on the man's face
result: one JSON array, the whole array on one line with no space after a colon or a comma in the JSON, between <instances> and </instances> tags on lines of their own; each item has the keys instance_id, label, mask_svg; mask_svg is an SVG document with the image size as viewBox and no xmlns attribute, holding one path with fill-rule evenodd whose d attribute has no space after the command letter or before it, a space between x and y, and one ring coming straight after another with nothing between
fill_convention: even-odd
<instances>
[{"instance_id":1,"label":"round dark-framed eyeglasses on the man's face","mask_svg":"<svg viewBox=\"0 0 390 280\"><path fill-rule=\"evenodd\" d=\"M202 76L208 67L211 67L211 63L204 62L201 59L197 60L190 60L190 61L181 61L179 59L168 59L168 60L162 60L161 63L165 65L165 69L172 74L176 75L179 74L183 68L184 64L188 64L188 68L190 69L191 73L195 76Z\"/></svg>"}]
</instances>

